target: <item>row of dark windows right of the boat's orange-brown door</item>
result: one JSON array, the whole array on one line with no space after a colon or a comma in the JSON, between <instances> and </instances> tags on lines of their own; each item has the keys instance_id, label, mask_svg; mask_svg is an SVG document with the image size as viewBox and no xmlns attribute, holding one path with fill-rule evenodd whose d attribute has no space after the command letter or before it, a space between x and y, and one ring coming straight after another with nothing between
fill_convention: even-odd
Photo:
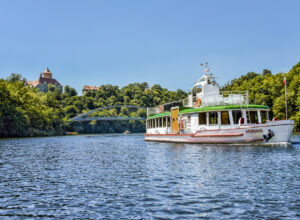
<instances>
[{"instance_id":1,"label":"row of dark windows right of the boat's orange-brown door","mask_svg":"<svg viewBox=\"0 0 300 220\"><path fill-rule=\"evenodd\" d=\"M239 124L240 118L242 118L242 112L240 110L231 111L234 124ZM259 123L257 111L246 111L248 123ZM261 123L267 121L267 111L260 111ZM199 113L199 125L216 125L218 123L218 112L201 112ZM230 125L229 112L221 111L221 125ZM246 119L244 119L246 121ZM207 123L208 121L208 123Z\"/></svg>"}]
</instances>

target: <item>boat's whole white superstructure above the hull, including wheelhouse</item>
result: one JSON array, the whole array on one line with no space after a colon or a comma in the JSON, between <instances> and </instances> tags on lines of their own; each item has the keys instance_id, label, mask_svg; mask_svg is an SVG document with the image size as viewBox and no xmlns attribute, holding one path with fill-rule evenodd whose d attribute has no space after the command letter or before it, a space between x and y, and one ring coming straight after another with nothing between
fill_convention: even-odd
<instances>
[{"instance_id":1,"label":"boat's whole white superstructure above the hull, including wheelhouse","mask_svg":"<svg viewBox=\"0 0 300 220\"><path fill-rule=\"evenodd\" d=\"M148 134L191 134L198 130L237 128L266 123L269 107L249 105L246 91L220 91L212 74L205 74L185 100L147 108Z\"/></svg>"}]
</instances>

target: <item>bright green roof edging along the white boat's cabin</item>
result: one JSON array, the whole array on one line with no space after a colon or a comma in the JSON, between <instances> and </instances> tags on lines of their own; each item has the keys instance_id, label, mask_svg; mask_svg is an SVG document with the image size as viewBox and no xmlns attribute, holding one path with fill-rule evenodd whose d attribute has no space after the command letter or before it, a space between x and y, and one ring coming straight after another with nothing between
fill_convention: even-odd
<instances>
[{"instance_id":1,"label":"bright green roof edging along the white boat's cabin","mask_svg":"<svg viewBox=\"0 0 300 220\"><path fill-rule=\"evenodd\" d=\"M209 106L202 108L185 108L179 111L179 114L191 114L197 112L206 112L206 111L222 111L222 110L240 110L240 109L267 109L270 108L266 105L220 105L220 106ZM147 119L170 116L170 112L163 112L160 114L150 115Z\"/></svg>"}]
</instances>

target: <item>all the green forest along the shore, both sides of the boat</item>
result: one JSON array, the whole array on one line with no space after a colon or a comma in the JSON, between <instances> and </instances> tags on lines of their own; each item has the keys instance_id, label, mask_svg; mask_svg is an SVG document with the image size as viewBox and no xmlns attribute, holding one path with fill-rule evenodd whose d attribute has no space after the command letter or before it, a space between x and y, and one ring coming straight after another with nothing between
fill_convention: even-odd
<instances>
[{"instance_id":1,"label":"all the green forest along the shore, both sides of the boat","mask_svg":"<svg viewBox=\"0 0 300 220\"><path fill-rule=\"evenodd\" d=\"M222 90L249 91L250 103L268 105L273 116L285 118L283 78L287 77L288 117L295 120L295 131L300 131L300 62L287 73L273 75L269 70L249 72L222 87ZM170 91L160 85L133 83L122 88L102 85L96 92L79 96L70 86L64 92L49 85L47 93L26 85L20 74L0 79L0 137L63 135L66 131L79 133L144 132L144 121L90 121L69 123L68 119L81 113L113 105L152 107L182 100L187 93ZM109 109L93 116L145 116L146 111L128 108Z\"/></svg>"}]
</instances>

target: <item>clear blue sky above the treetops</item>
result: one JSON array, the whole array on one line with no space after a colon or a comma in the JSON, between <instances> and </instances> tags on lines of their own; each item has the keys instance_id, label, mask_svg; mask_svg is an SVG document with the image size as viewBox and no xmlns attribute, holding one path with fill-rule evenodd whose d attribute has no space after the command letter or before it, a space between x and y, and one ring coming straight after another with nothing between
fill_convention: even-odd
<instances>
[{"instance_id":1,"label":"clear blue sky above the treetops","mask_svg":"<svg viewBox=\"0 0 300 220\"><path fill-rule=\"evenodd\" d=\"M0 78L187 91L208 62L220 85L300 61L298 0L2 0Z\"/></svg>"}]
</instances>

